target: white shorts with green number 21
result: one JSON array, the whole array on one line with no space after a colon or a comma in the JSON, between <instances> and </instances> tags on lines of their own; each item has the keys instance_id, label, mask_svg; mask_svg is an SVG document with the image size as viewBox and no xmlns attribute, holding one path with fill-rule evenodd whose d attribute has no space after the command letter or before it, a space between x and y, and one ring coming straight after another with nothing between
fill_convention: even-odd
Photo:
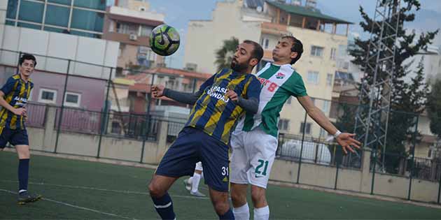
<instances>
[{"instance_id":1,"label":"white shorts with green number 21","mask_svg":"<svg viewBox=\"0 0 441 220\"><path fill-rule=\"evenodd\" d=\"M260 128L232 133L230 182L267 188L277 150L277 138Z\"/></svg>"}]
</instances>

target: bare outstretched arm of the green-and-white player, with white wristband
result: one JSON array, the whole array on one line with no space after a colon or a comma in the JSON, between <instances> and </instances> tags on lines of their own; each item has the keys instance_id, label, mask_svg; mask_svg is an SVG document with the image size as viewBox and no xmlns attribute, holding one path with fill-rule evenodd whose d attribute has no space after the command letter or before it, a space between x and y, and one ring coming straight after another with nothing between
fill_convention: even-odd
<instances>
[{"instance_id":1,"label":"bare outstretched arm of the green-and-white player, with white wristband","mask_svg":"<svg viewBox=\"0 0 441 220\"><path fill-rule=\"evenodd\" d=\"M360 148L361 143L358 142L358 140L353 139L355 134L338 131L338 129L329 121L328 117L326 117L325 114L314 105L309 96L299 96L297 97L297 100L300 105L303 106L304 110L307 111L309 117L314 119L314 121L328 131L328 133L335 136L338 144L342 145L345 154L347 154L346 149L350 152L354 152L352 147Z\"/></svg>"}]
</instances>

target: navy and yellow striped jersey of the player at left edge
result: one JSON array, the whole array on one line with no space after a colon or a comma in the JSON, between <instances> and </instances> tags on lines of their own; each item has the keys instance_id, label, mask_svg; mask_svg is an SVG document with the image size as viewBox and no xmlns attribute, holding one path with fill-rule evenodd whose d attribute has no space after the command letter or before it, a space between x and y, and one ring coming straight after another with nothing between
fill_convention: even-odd
<instances>
[{"instance_id":1,"label":"navy and yellow striped jersey of the player at left edge","mask_svg":"<svg viewBox=\"0 0 441 220\"><path fill-rule=\"evenodd\" d=\"M5 94L3 98L9 105L13 106L13 108L23 108L27 104L27 99L33 87L34 83L31 79L25 82L25 80L20 78L19 74L16 74L8 78L8 81L0 90ZM0 128L25 129L23 117L15 115L6 108L1 108Z\"/></svg>"}]
</instances>

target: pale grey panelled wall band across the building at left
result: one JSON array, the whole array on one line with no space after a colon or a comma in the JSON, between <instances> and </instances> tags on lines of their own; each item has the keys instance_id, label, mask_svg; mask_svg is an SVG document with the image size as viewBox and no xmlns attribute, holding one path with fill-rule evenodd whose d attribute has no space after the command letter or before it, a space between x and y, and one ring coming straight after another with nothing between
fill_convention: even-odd
<instances>
[{"instance_id":1,"label":"pale grey panelled wall band across the building at left","mask_svg":"<svg viewBox=\"0 0 441 220\"><path fill-rule=\"evenodd\" d=\"M104 79L109 78L110 68L101 66L116 67L119 48L119 43L115 41L9 25L6 25L4 29L0 27L0 45L3 50L16 51L1 52L0 64L15 66L18 62L17 52L29 52L60 58L37 56L38 65L36 67L40 70L66 73L68 61L61 59L71 59L89 64L72 63L69 74Z\"/></svg>"}]
</instances>

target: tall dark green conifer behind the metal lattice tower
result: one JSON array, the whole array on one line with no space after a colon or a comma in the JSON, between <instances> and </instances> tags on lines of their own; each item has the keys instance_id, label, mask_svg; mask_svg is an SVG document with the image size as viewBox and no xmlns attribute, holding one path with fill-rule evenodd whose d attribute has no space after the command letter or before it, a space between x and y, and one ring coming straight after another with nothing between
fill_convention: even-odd
<instances>
[{"instance_id":1,"label":"tall dark green conifer behind the metal lattice tower","mask_svg":"<svg viewBox=\"0 0 441 220\"><path fill-rule=\"evenodd\" d=\"M396 1L400 0L384 0L383 3L393 4L396 3ZM408 139L409 134L413 132L411 131L411 128L415 123L412 115L406 115L400 112L419 114L424 110L423 106L426 104L426 91L423 91L424 88L426 88L426 85L423 82L422 76L421 78L419 76L412 78L411 82L405 81L406 76L410 73L407 70L410 64L405 65L404 61L412 58L418 52L426 50L427 45L433 41L433 38L438 32L428 31L419 36L416 36L414 31L406 33L405 23L415 20L414 11L419 10L421 4L418 0L402 0L401 6L402 7L399 9L400 20L398 21L398 43L395 50L395 73L392 79L393 88L391 88L391 113L389 114L386 140L386 154L395 154L394 156L391 156L395 159L398 159L398 155L405 156L406 140ZM396 10L398 10L398 8ZM361 6L360 14L363 17L363 21L360 22L363 31L372 34L373 41L378 41L381 29L374 26L374 29L372 30L374 21L367 15L367 13L365 13ZM396 24L397 21L391 20L391 22L395 22ZM395 24L393 24L394 27ZM385 29L384 31L386 31L386 36L394 34L392 33L392 29ZM368 52L367 50L369 50L369 41L369 39L356 38L356 47L349 50L349 53L354 57L352 61L353 64L365 66L366 54ZM395 42L391 38L386 41L388 47L392 47L394 43ZM370 54L376 53L377 50L378 49L375 47L370 47ZM384 50L380 52L384 52ZM374 59L370 61L370 65L375 66ZM364 71L365 76L362 80L371 84L374 77L373 71L371 71L370 68L365 68ZM384 71L380 70L378 72L379 79L386 80L387 77L388 75ZM367 101L364 102L367 103ZM381 120L384 120L384 118ZM382 149L378 150L382 152ZM386 169L389 172L396 171L398 168L396 163L391 160L391 158L386 156L386 163L388 164Z\"/></svg>"}]
</instances>

